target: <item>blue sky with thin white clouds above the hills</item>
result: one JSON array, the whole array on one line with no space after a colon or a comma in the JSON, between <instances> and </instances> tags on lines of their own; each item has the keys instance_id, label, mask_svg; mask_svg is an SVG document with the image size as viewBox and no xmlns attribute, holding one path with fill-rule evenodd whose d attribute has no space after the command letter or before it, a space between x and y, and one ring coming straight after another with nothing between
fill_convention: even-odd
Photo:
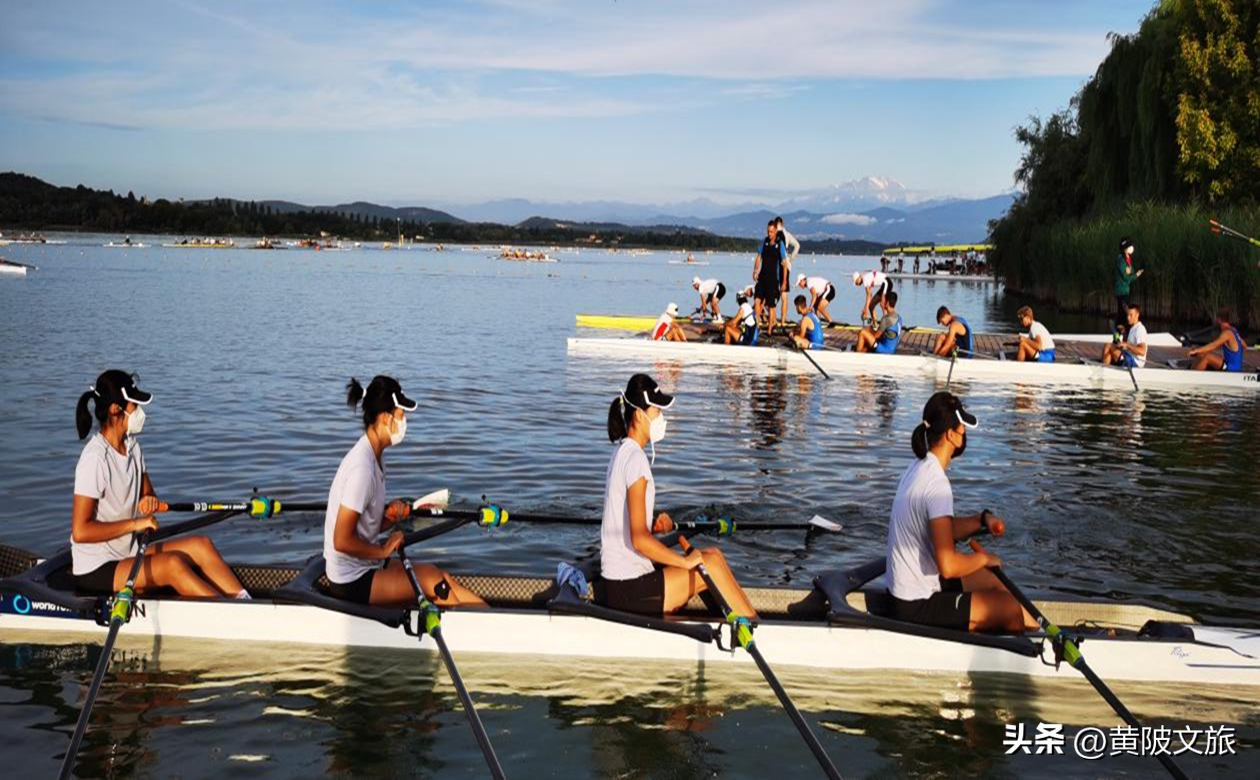
<instances>
[{"instance_id":1,"label":"blue sky with thin white clouds above the hills","mask_svg":"<svg viewBox=\"0 0 1260 780\"><path fill-rule=\"evenodd\" d=\"M1012 186L1150 0L0 4L0 170L151 197Z\"/></svg>"}]
</instances>

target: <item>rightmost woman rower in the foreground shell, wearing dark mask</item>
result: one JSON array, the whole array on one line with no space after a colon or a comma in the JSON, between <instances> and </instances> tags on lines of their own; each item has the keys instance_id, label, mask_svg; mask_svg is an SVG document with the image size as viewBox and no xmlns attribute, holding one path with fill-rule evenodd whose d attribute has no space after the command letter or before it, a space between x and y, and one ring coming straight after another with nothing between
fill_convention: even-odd
<instances>
[{"instance_id":1,"label":"rightmost woman rower in the foreground shell, wearing dark mask","mask_svg":"<svg viewBox=\"0 0 1260 780\"><path fill-rule=\"evenodd\" d=\"M988 509L954 514L954 489L945 471L966 450L966 432L979 425L951 393L935 393L911 433L915 461L897 485L888 518L888 594L892 617L958 631L1021 633L1037 622L989 571L1002 561L973 543L980 533L1005 536L1007 523Z\"/></svg>"}]
</instances>

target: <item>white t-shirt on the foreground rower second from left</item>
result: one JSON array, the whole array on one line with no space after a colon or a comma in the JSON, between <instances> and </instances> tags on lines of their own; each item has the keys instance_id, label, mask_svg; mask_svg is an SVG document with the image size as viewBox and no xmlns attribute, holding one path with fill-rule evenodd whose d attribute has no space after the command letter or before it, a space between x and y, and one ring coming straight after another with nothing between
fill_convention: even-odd
<instances>
[{"instance_id":1,"label":"white t-shirt on the foreground rower second from left","mask_svg":"<svg viewBox=\"0 0 1260 780\"><path fill-rule=\"evenodd\" d=\"M354 533L364 542L375 543L381 536L381 520L386 514L386 473L372 452L368 435L359 437L350 451L341 459L341 465L333 478L328 491L328 509L324 512L324 561L330 582L345 585L353 582L374 568L381 568L383 561L364 561L336 551L333 534L336 531L336 514L345 507L359 513Z\"/></svg>"}]
</instances>

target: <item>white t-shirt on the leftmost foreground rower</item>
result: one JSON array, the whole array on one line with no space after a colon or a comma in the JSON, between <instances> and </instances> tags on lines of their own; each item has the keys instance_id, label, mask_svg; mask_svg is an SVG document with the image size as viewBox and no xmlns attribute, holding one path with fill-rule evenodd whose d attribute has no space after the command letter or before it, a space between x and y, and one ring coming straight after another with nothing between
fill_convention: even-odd
<instances>
[{"instance_id":1,"label":"white t-shirt on the leftmost foreground rower","mask_svg":"<svg viewBox=\"0 0 1260 780\"><path fill-rule=\"evenodd\" d=\"M96 499L98 523L130 520L140 514L140 488L145 475L145 455L140 442L127 436L127 454L110 446L97 433L83 445L74 467L74 495ZM87 575L106 563L136 554L135 534L123 534L108 542L76 542L71 534L71 573Z\"/></svg>"}]
</instances>

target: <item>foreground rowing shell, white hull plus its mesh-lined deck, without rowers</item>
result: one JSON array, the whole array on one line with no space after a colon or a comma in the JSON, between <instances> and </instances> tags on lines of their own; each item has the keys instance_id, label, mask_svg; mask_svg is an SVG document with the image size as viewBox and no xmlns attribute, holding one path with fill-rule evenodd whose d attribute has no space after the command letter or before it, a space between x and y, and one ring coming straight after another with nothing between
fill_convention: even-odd
<instances>
[{"instance_id":1,"label":"foreground rowing shell, white hull plus its mesh-lined deck, without rowers","mask_svg":"<svg viewBox=\"0 0 1260 780\"><path fill-rule=\"evenodd\" d=\"M68 553L60 566L68 563ZM98 600L59 590L57 568L32 578L38 557L0 546L0 636L39 631L50 636L100 635ZM55 559L52 563L57 563ZM417 615L412 610L338 606L315 592L307 600L297 567L236 566L253 601L192 601L141 597L127 633L228 641L271 641L411 649ZM1045 635L979 635L900 622L887 616L887 594L871 583L882 575L877 559L848 572L823 572L815 587L747 587L761 614L757 645L774 664L814 669L895 669L955 674L999 673L1076 679L1053 663ZM43 576L43 575L42 575ZM653 658L687 664L751 663L711 641L718 622L693 599L668 620L609 614L572 588L548 578L459 575L491 606L444 614L444 634L455 653L496 657ZM315 606L319 604L320 606ZM1260 635L1254 630L1208 628L1186 615L1142 604L1048 600L1043 611L1074 636L1086 640L1090 665L1109 680L1260 685ZM352 615L349 612L357 612ZM398 630L408 626L408 631ZM504 641L510 638L510 641ZM701 641L697 641L699 639ZM435 650L431 638L421 646Z\"/></svg>"}]
</instances>

